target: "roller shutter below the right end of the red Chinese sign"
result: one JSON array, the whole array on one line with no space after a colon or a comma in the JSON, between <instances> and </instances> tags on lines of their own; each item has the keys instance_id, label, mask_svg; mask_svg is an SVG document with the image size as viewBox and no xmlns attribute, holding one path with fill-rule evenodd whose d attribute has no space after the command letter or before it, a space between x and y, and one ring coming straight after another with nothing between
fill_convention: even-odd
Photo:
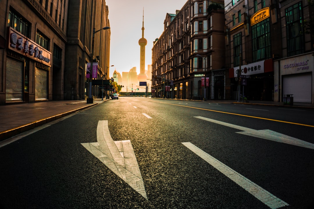
<instances>
[{"instance_id":1,"label":"roller shutter below the right end of the red Chinese sign","mask_svg":"<svg viewBox=\"0 0 314 209\"><path fill-rule=\"evenodd\" d=\"M35 100L48 99L48 71L35 68Z\"/></svg>"}]
</instances>

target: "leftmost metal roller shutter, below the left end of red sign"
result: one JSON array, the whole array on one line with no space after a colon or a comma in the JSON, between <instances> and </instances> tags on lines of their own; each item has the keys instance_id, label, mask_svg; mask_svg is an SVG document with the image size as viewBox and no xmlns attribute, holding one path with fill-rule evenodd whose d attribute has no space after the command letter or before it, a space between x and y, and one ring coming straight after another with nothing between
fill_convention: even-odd
<instances>
[{"instance_id":1,"label":"leftmost metal roller shutter, below the left end of red sign","mask_svg":"<svg viewBox=\"0 0 314 209\"><path fill-rule=\"evenodd\" d=\"M5 100L6 102L23 101L24 95L24 62L6 60Z\"/></svg>"}]
</instances>

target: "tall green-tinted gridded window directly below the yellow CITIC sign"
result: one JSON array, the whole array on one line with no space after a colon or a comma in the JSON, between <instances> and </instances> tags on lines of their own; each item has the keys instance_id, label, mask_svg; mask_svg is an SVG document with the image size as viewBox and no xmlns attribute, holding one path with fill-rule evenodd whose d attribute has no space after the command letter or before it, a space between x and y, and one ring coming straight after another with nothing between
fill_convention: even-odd
<instances>
[{"instance_id":1,"label":"tall green-tinted gridded window directly below the yellow CITIC sign","mask_svg":"<svg viewBox=\"0 0 314 209\"><path fill-rule=\"evenodd\" d=\"M270 18L252 26L253 61L271 58Z\"/></svg>"}]
</instances>

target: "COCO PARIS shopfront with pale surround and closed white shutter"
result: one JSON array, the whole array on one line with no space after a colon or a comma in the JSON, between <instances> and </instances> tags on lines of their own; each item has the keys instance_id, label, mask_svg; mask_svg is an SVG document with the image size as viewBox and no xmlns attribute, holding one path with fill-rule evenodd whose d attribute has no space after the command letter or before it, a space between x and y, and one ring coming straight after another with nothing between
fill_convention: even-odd
<instances>
[{"instance_id":1,"label":"COCO PARIS shopfront with pale surround and closed white shutter","mask_svg":"<svg viewBox=\"0 0 314 209\"><path fill-rule=\"evenodd\" d=\"M314 61L311 53L275 61L275 101L283 101L285 95L292 95L294 102L313 104ZM278 73L277 73L278 72ZM280 85L281 84L281 85Z\"/></svg>"}]
</instances>

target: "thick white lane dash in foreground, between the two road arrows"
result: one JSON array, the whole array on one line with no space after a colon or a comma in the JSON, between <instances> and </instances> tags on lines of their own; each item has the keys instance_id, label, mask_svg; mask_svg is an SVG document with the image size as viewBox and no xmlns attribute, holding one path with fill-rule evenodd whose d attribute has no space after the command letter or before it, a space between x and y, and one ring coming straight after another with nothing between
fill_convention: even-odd
<instances>
[{"instance_id":1,"label":"thick white lane dash in foreground, between the two road arrows","mask_svg":"<svg viewBox=\"0 0 314 209\"><path fill-rule=\"evenodd\" d=\"M192 152L197 154L199 157L204 159L210 165L212 165L215 169L219 170L229 179L233 180L236 184L241 186L243 189L248 191L250 194L255 196L258 200L262 201L265 205L272 209L289 206L288 203L280 200L278 197L274 196L270 192L264 190L259 185L255 184L254 182L250 181L243 175L239 174L235 170L231 169L227 165L220 162L218 159L215 159L213 156L207 154L202 149L199 149L197 146L190 142L183 142L184 146L190 149Z\"/></svg>"}]
</instances>

